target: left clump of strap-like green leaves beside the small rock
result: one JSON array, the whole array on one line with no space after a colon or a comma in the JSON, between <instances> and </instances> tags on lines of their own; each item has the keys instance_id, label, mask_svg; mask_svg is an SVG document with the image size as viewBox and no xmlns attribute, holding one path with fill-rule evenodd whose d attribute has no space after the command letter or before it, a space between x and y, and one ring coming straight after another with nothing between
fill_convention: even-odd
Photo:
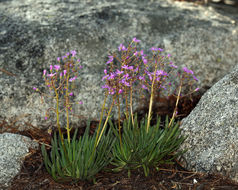
<instances>
[{"instance_id":1,"label":"left clump of strap-like green leaves beside the small rock","mask_svg":"<svg viewBox=\"0 0 238 190\"><path fill-rule=\"evenodd\" d=\"M76 134L77 130L70 142L64 139L62 144L60 137L54 133L49 156L45 145L41 147L45 167L56 181L94 180L95 174L112 160L112 130L109 129L107 135L103 133L97 147L96 133L89 135L89 122L83 136L76 139Z\"/></svg>"}]
</instances>

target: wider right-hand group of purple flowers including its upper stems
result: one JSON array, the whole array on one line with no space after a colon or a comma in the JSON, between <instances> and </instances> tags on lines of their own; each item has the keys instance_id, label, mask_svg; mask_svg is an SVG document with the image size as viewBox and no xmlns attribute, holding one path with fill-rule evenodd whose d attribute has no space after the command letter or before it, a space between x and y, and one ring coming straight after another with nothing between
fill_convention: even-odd
<instances>
[{"instance_id":1,"label":"wider right-hand group of purple flowers including its upper stems","mask_svg":"<svg viewBox=\"0 0 238 190\"><path fill-rule=\"evenodd\" d=\"M178 96L181 96L180 88L182 85L185 85L186 83L192 86L193 81L198 81L194 72L187 67L183 67L181 73L178 66L172 61L169 61L169 58L171 57L170 54L167 54L166 56L162 55L162 52L164 51L162 48L150 48L150 51L153 54L152 57L146 55L143 50L137 50L136 45L139 42L140 40L133 38L128 47L124 44L120 44L118 46L120 55L117 56L114 53L108 56L109 60L106 62L108 69L104 70L104 76L102 78L105 82L102 88L106 89L108 94L113 95L114 97L122 95L122 97L126 99L126 112L128 114L128 107L130 106L132 119L132 94L134 90L139 90L139 94L143 93L143 90L145 90L144 92L147 91L150 93L151 111L152 101L156 90L160 90L160 92L167 90L168 93L170 93L172 84L169 82L168 78L172 79L174 76L179 78L180 87L178 87ZM193 81L190 80L191 76L193 77ZM198 88L194 91L197 90ZM177 92L173 91L173 95L176 94ZM141 95L140 97L144 97L144 95ZM130 99L129 105L127 98ZM119 99L117 98L117 100L119 105ZM118 109L120 108L118 107Z\"/></svg>"}]
</instances>

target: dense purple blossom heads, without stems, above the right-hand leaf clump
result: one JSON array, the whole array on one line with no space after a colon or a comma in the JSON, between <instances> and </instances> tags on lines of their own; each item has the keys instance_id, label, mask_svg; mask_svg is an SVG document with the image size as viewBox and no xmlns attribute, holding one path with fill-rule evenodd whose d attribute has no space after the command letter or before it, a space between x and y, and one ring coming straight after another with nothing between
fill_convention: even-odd
<instances>
[{"instance_id":1,"label":"dense purple blossom heads, without stems, above the right-hand leaf clump","mask_svg":"<svg viewBox=\"0 0 238 190\"><path fill-rule=\"evenodd\" d=\"M140 90L150 91L153 78L155 78L154 87L157 89L166 90L167 87L171 86L171 82L166 79L169 78L172 71L178 69L178 66L172 61L167 60L171 55L162 56L163 49L152 47L150 50L153 53L153 58L149 59L143 50L137 51L136 44L139 42L140 40L133 38L127 48L120 44L118 51L121 52L121 59L115 54L108 56L109 60L106 64L110 64L110 68L104 70L105 75L102 80L105 84L102 88L106 89L109 94L122 94L126 89L132 87L134 83L140 84L137 86ZM116 67L115 61L119 62L119 67ZM170 72L166 71L166 66L170 68ZM186 77L189 78L190 75L194 80L198 80L192 70L183 67L183 71L184 73L179 75L183 77L183 80Z\"/></svg>"}]
</instances>

